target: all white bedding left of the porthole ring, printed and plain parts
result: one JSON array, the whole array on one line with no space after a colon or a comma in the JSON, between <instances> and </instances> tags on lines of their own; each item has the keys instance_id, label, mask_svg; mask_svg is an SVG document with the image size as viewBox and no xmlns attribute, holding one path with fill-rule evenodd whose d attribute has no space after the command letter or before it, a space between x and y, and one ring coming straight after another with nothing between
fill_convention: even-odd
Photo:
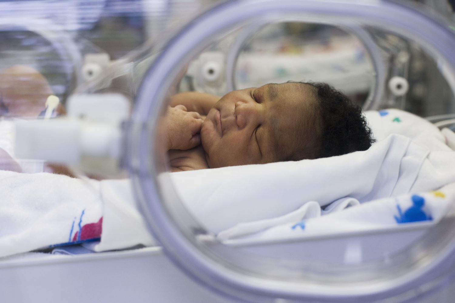
<instances>
[{"instance_id":1,"label":"all white bedding left of the porthole ring, printed and plain parts","mask_svg":"<svg viewBox=\"0 0 455 303\"><path fill-rule=\"evenodd\" d=\"M92 251L154 244L130 180L0 170L0 181L0 257L78 243Z\"/></svg>"}]
</instances>

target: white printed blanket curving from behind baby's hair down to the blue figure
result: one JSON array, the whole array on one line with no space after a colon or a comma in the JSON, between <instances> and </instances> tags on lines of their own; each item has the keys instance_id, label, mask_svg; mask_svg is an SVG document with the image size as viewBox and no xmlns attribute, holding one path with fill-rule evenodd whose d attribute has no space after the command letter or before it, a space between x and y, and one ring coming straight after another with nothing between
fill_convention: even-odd
<instances>
[{"instance_id":1,"label":"white printed blanket curving from behind baby's hair down to the blue figure","mask_svg":"<svg viewBox=\"0 0 455 303\"><path fill-rule=\"evenodd\" d=\"M382 144L390 134L397 133L412 139L412 143L418 145L421 150L428 151L428 156L421 165L419 164L420 158L415 157L416 154L413 153L408 152L402 159L398 180L412 178L415 169L419 168L415 182L410 189L406 190L401 187L403 183L397 182L394 191L389 195L390 198L381 197L381 195L371 196L372 201L361 206L357 205L366 201L359 201L352 197L341 198L320 213L313 209L312 213L316 215L310 216L304 210L308 209L307 205L313 206L315 202L307 202L290 214L237 224L218 233L217 237L222 240L293 238L397 227L397 224L420 221L425 221L420 224L437 222L445 214L447 206L454 198L455 152L444 144L445 138L439 129L413 114L389 109L379 112L370 111L366 115L375 137L379 140L379 143L370 150L375 149L378 144ZM378 178L381 176L378 175ZM449 185L439 191L422 192L438 189L445 184ZM397 197L397 195L399 196ZM350 207L348 210L340 212L348 207ZM329 213L330 215L324 216ZM315 218L321 214L323 217ZM296 219L298 217L300 219ZM300 232L296 232L296 229ZM304 232L302 232L303 230Z\"/></svg>"}]
</instances>

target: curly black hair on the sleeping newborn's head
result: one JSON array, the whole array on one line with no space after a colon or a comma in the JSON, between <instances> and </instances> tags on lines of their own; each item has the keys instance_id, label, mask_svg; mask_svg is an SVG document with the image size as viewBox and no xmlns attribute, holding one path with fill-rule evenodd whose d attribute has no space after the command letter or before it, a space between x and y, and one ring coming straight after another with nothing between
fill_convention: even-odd
<instances>
[{"instance_id":1,"label":"curly black hair on the sleeping newborn's head","mask_svg":"<svg viewBox=\"0 0 455 303\"><path fill-rule=\"evenodd\" d=\"M342 92L326 83L303 83L310 88L313 117L311 134L285 160L317 159L367 150L375 142L361 108Z\"/></svg>"}]
</instances>

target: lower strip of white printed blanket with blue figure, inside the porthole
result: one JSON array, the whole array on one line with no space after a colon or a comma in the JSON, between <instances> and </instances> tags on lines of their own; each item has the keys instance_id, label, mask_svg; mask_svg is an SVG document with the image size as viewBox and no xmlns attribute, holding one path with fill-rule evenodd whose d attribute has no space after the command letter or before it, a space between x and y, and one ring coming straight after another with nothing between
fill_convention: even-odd
<instances>
[{"instance_id":1,"label":"lower strip of white printed blanket with blue figure, inside the porthole","mask_svg":"<svg viewBox=\"0 0 455 303\"><path fill-rule=\"evenodd\" d=\"M261 222L261 227L257 226L257 222L238 224L219 233L217 237L221 240L286 240L382 230L400 225L434 224L446 214L454 199L455 183L452 183L436 191L377 199L319 218L306 218L305 214L300 214L300 219L294 217L279 224L275 224L278 222L276 219L269 219Z\"/></svg>"}]
</instances>

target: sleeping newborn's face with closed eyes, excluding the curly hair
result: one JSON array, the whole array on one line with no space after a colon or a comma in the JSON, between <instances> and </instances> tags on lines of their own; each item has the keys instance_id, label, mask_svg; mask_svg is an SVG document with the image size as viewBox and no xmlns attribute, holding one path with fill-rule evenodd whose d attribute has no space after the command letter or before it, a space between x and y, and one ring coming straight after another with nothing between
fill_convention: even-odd
<instances>
[{"instance_id":1,"label":"sleeping newborn's face with closed eyes, excluding the curly hair","mask_svg":"<svg viewBox=\"0 0 455 303\"><path fill-rule=\"evenodd\" d=\"M224 95L202 124L210 168L277 162L301 140L309 90L303 84L266 84Z\"/></svg>"}]
</instances>

